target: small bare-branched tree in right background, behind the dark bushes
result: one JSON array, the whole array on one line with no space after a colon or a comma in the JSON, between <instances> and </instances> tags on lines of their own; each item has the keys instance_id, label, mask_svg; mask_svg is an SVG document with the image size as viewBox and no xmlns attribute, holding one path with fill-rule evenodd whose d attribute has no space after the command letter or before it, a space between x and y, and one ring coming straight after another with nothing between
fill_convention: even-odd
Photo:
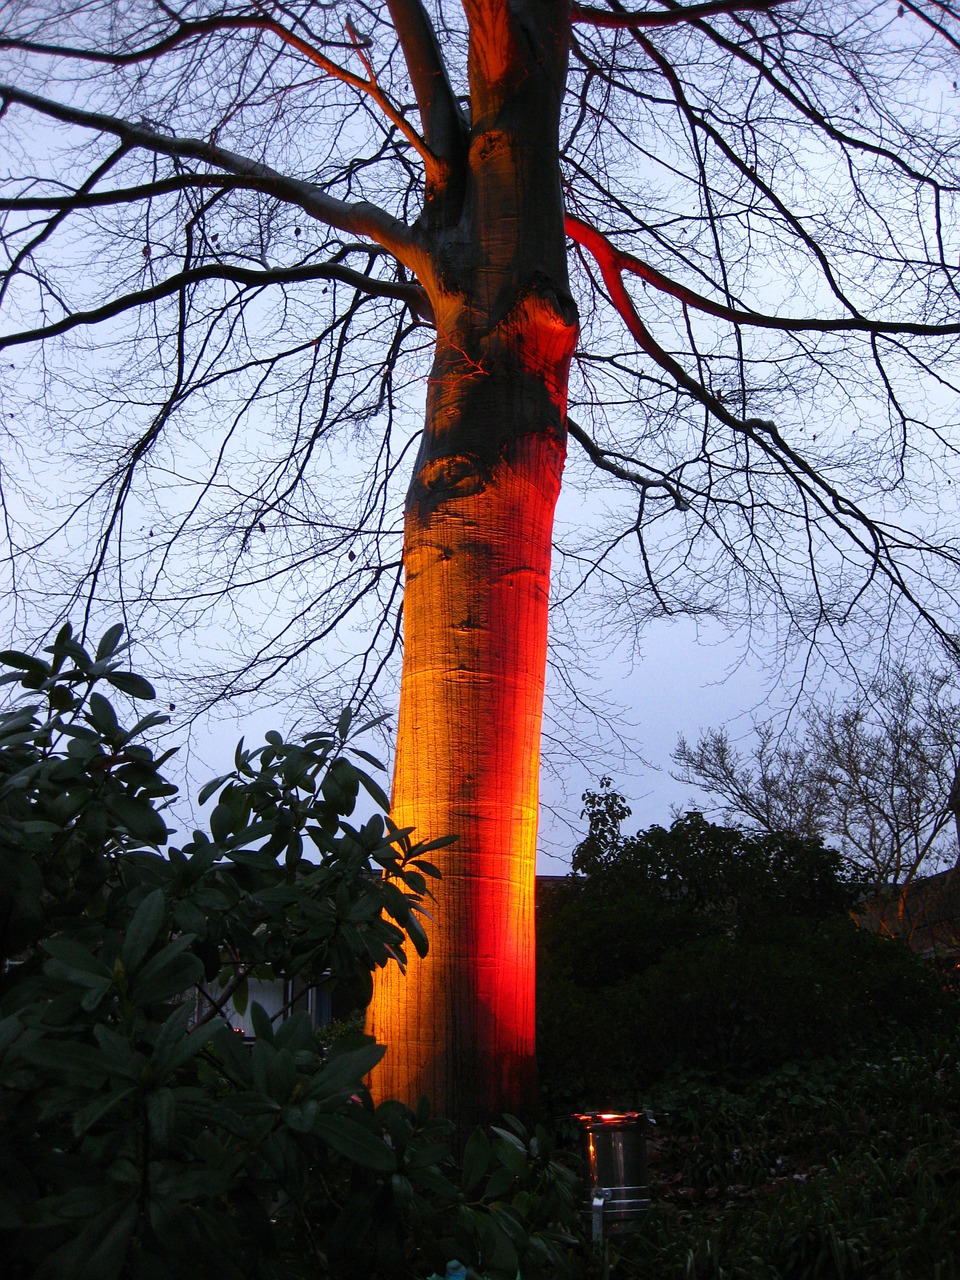
<instances>
[{"instance_id":1,"label":"small bare-branched tree in right background, behind the dark bushes","mask_svg":"<svg viewBox=\"0 0 960 1280\"><path fill-rule=\"evenodd\" d=\"M749 754L724 730L673 753L677 777L768 832L833 841L876 888L957 861L960 700L948 671L891 669L846 699L813 703L803 736L758 730Z\"/></svg>"}]
</instances>

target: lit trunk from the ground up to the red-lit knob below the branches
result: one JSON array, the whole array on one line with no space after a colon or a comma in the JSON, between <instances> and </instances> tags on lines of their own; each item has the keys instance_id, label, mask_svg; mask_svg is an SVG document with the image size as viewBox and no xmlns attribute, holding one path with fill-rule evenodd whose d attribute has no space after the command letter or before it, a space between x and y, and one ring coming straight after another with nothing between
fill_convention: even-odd
<instances>
[{"instance_id":1,"label":"lit trunk from the ground up to the red-lit knob below the branches","mask_svg":"<svg viewBox=\"0 0 960 1280\"><path fill-rule=\"evenodd\" d=\"M378 1094L426 1094L462 1132L529 1108L536 1085L540 723L575 339L529 294L475 357L438 343L407 500L393 818L458 838L435 855L429 955L379 975L369 1029L388 1046Z\"/></svg>"}]
</instances>

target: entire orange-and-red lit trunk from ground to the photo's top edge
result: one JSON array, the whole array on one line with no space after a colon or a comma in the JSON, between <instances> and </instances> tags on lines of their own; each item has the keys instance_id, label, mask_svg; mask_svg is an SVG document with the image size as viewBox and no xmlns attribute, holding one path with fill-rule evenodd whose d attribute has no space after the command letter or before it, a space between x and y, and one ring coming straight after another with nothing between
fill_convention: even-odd
<instances>
[{"instance_id":1,"label":"entire orange-and-red lit trunk from ground to the photo's top edge","mask_svg":"<svg viewBox=\"0 0 960 1280\"><path fill-rule=\"evenodd\" d=\"M375 986L381 1097L426 1094L461 1133L535 1089L534 873L550 538L566 448L570 296L558 0L465 0L470 120L419 9L389 0L436 157L421 219L436 317L404 522L393 818L454 835L430 952ZM445 113L445 114L444 114Z\"/></svg>"}]
</instances>

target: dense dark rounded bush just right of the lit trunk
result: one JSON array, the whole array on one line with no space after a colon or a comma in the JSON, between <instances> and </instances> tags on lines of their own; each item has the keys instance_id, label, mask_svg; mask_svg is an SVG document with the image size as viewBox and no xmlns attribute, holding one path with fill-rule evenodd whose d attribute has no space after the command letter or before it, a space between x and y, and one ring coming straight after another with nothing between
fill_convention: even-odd
<instances>
[{"instance_id":1,"label":"dense dark rounded bush just right of the lit trunk","mask_svg":"<svg viewBox=\"0 0 960 1280\"><path fill-rule=\"evenodd\" d=\"M699 813L628 835L604 783L584 796L580 874L540 904L553 1107L634 1107L676 1069L742 1082L954 1016L932 966L858 927L864 876L819 837Z\"/></svg>"}]
</instances>

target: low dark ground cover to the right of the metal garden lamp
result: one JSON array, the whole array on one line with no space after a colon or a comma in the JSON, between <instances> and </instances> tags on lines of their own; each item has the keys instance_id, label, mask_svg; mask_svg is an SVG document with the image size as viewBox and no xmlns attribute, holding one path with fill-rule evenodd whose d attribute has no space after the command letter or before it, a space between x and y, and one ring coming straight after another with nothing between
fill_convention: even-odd
<instances>
[{"instance_id":1,"label":"low dark ground cover to the right of the metal garden lamp","mask_svg":"<svg viewBox=\"0 0 960 1280\"><path fill-rule=\"evenodd\" d=\"M653 1208L616 1280L955 1280L960 1034L786 1064L737 1089L653 1088ZM585 1268L604 1270L594 1257Z\"/></svg>"}]
</instances>

